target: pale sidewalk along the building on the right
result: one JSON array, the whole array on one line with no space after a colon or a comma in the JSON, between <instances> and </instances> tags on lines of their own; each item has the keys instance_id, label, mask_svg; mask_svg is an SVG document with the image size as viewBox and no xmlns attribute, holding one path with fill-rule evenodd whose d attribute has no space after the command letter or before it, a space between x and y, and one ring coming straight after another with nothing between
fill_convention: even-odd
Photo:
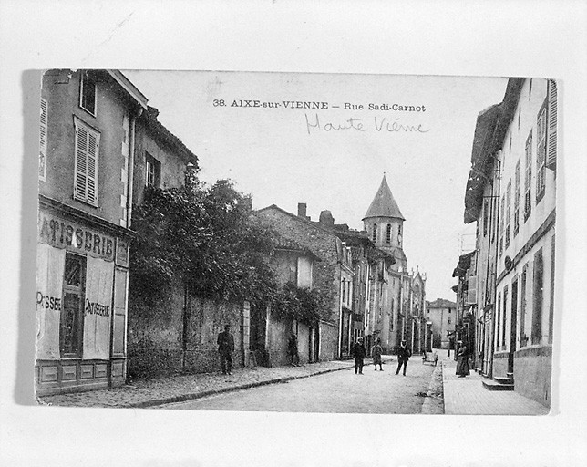
<instances>
[{"instance_id":1,"label":"pale sidewalk along the building on the right","mask_svg":"<svg viewBox=\"0 0 587 467\"><path fill-rule=\"evenodd\" d=\"M444 354L444 355L443 355ZM444 388L444 410L448 415L548 415L549 410L535 400L514 391L483 388L484 378L475 371L466 378L455 374L457 362L439 350Z\"/></svg>"}]
</instances>

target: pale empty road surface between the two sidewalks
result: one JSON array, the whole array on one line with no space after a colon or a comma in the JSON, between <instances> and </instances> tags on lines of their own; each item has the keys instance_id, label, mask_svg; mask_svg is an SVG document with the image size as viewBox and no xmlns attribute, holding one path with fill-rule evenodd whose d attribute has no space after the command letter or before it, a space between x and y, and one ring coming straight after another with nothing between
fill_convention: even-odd
<instances>
[{"instance_id":1,"label":"pale empty road surface between the two sidewalks","mask_svg":"<svg viewBox=\"0 0 587 467\"><path fill-rule=\"evenodd\" d=\"M395 364L395 362L393 362ZM158 406L172 410L248 410L338 413L419 413L434 367L422 365L419 358L410 360L407 376L396 376L395 365L384 371L364 368L363 375L354 370L335 371L288 383L219 394Z\"/></svg>"}]
</instances>

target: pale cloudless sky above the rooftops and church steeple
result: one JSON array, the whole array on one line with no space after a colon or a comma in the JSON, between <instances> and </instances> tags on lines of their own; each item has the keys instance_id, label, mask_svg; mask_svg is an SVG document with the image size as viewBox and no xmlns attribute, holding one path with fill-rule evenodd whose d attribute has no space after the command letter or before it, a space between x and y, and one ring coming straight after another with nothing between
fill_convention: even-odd
<instances>
[{"instance_id":1,"label":"pale cloudless sky above the rooftops and church steeple","mask_svg":"<svg viewBox=\"0 0 587 467\"><path fill-rule=\"evenodd\" d=\"M475 244L475 224L465 225L463 212L476 119L503 99L507 78L124 74L198 156L201 180L231 179L252 194L254 209L277 204L297 213L305 202L314 221L329 210L335 223L363 230L385 173L406 218L408 270L426 273L428 300L455 300L458 255Z\"/></svg>"}]
</instances>

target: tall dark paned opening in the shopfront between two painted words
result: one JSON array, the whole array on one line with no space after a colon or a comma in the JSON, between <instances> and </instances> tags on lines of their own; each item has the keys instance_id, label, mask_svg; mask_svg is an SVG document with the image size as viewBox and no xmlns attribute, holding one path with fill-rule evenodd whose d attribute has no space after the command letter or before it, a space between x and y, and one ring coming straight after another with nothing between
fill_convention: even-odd
<instances>
[{"instance_id":1,"label":"tall dark paned opening in the shopfront between two painted words","mask_svg":"<svg viewBox=\"0 0 587 467\"><path fill-rule=\"evenodd\" d=\"M86 258L66 253L63 280L63 309L59 327L59 349L62 357L79 357L84 327Z\"/></svg>"}]
</instances>

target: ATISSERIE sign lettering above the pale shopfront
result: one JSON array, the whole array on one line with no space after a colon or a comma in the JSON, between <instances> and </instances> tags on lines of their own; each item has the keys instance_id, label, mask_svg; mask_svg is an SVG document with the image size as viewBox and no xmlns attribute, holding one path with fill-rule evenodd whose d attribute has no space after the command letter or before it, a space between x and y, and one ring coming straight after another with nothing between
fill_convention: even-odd
<instances>
[{"instance_id":1,"label":"ATISSERIE sign lettering above the pale shopfront","mask_svg":"<svg viewBox=\"0 0 587 467\"><path fill-rule=\"evenodd\" d=\"M114 260L114 239L88 227L41 213L39 231L39 237L43 243L87 253L108 261Z\"/></svg>"}]
</instances>

